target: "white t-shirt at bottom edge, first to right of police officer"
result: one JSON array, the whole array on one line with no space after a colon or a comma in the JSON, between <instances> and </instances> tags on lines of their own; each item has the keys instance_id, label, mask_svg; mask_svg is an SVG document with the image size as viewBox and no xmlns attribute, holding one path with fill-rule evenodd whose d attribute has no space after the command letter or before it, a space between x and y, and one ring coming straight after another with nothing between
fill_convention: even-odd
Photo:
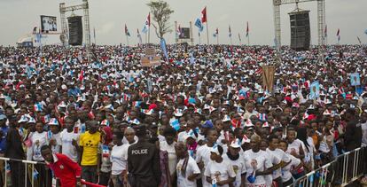
<instances>
[{"instance_id":1,"label":"white t-shirt at bottom edge, first to right of police officer","mask_svg":"<svg viewBox=\"0 0 367 187\"><path fill-rule=\"evenodd\" d=\"M192 174L200 174L200 169L198 167L198 164L195 160L193 160L191 157L189 157L189 160L187 161L187 167L185 174L183 176L181 168L183 168L183 159L178 160L177 167L176 167L176 174L177 174L177 187L196 187L196 180L189 181L187 177L189 177Z\"/></svg>"}]
</instances>

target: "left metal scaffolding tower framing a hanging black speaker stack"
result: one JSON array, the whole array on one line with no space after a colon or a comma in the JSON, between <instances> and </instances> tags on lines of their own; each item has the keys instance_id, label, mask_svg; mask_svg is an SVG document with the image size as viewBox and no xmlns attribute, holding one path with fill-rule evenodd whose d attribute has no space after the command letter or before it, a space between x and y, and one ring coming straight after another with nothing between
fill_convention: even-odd
<instances>
[{"instance_id":1,"label":"left metal scaffolding tower framing a hanging black speaker stack","mask_svg":"<svg viewBox=\"0 0 367 187\"><path fill-rule=\"evenodd\" d=\"M66 36L68 34L65 13L66 12L74 12L74 11L77 11L77 10L83 10L83 12L84 12L84 43L85 43L87 58L88 58L88 61L90 62L90 58L91 58L91 51L90 51L90 12L89 12L88 0L82 0L82 4L77 4L77 5L74 5L74 6L65 6L65 3L59 4L62 35ZM64 44L66 44L66 43L64 43Z\"/></svg>"}]
</instances>

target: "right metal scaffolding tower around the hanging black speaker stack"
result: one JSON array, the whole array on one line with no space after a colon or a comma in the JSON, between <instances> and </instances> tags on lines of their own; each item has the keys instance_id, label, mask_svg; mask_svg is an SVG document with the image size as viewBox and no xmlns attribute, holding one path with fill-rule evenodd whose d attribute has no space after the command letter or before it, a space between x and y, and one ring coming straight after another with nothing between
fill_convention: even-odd
<instances>
[{"instance_id":1,"label":"right metal scaffolding tower around the hanging black speaker stack","mask_svg":"<svg viewBox=\"0 0 367 187\"><path fill-rule=\"evenodd\" d=\"M273 0L275 42L278 54L280 53L280 49L282 46L281 41L282 32L280 26L280 5L299 4L311 1L317 1L317 33L318 33L319 60L322 60L324 62L325 0Z\"/></svg>"}]
</instances>

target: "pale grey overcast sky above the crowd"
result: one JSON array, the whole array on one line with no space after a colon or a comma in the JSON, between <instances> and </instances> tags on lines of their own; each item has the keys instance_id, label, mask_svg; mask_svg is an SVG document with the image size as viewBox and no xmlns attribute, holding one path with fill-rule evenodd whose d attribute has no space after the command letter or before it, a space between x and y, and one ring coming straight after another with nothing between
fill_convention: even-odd
<instances>
[{"instance_id":1,"label":"pale grey overcast sky above the crowd","mask_svg":"<svg viewBox=\"0 0 367 187\"><path fill-rule=\"evenodd\" d=\"M213 37L215 28L219 28L219 43L230 43L228 26L232 30L232 41L238 42L240 33L242 42L246 41L246 21L250 25L251 44L270 44L274 41L274 23L272 0L167 0L175 11L170 19L172 28L176 20L181 27L188 27L189 21L199 18L201 10L207 6L210 43L216 43ZM0 44L14 45L21 37L32 32L40 25L40 15L58 17L60 30L59 3L67 5L81 4L82 0L0 0ZM98 44L126 43L124 24L129 27L130 44L137 43L137 28L141 30L149 12L146 3L149 0L90 0L90 31L93 39L93 27L96 28ZM290 42L288 12L295 5L281 7L282 43ZM367 42L367 0L326 0L326 23L328 43L336 43L336 33L340 28L340 43L357 43L359 36ZM317 43L316 2L300 4L301 9L310 10L311 43ZM82 12L75 12L82 15ZM66 14L66 17L70 13ZM194 27L194 40L199 43L198 29ZM165 36L168 43L175 43L175 33ZM144 40L144 37L143 37ZM154 32L151 41L158 43ZM206 29L201 35L201 43L206 43ZM46 43L59 43L59 36L49 36Z\"/></svg>"}]
</instances>

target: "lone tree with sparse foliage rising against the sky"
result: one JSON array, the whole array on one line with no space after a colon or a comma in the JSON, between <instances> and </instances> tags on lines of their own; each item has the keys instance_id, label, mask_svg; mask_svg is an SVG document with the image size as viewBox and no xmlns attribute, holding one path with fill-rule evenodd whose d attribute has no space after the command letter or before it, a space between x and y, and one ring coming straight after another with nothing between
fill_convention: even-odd
<instances>
[{"instance_id":1,"label":"lone tree with sparse foliage rising against the sky","mask_svg":"<svg viewBox=\"0 0 367 187\"><path fill-rule=\"evenodd\" d=\"M162 39L163 35L172 32L169 25L169 18L171 17L171 13L174 11L169 8L169 4L165 1L151 1L146 4L151 8L152 12L152 20L155 23L152 23L152 26L155 28L155 34Z\"/></svg>"}]
</instances>

